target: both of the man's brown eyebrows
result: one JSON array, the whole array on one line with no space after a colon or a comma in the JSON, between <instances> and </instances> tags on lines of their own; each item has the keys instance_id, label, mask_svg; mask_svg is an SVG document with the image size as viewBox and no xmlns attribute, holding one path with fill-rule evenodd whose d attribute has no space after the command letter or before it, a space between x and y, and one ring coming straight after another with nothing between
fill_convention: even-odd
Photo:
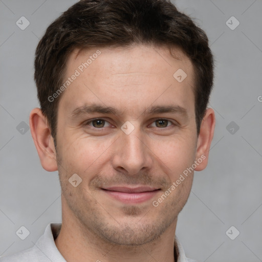
<instances>
[{"instance_id":1,"label":"both of the man's brown eyebrows","mask_svg":"<svg viewBox=\"0 0 262 262\"><path fill-rule=\"evenodd\" d=\"M122 111L117 110L117 108L112 106L103 106L99 104L85 104L83 106L77 107L70 115L70 118L76 118L80 115L85 114L111 114L116 116L123 115ZM156 105L146 108L143 115L154 115L154 114L163 114L163 113L174 113L183 116L184 118L188 118L187 110L180 105Z\"/></svg>"}]
</instances>

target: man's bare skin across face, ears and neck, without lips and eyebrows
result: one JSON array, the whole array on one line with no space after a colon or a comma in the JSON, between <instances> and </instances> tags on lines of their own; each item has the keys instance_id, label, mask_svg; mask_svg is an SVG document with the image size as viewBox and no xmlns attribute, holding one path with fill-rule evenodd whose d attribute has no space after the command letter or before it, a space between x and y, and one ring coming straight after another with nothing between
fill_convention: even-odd
<instances>
[{"instance_id":1,"label":"man's bare skin across face, ears and neck, without lips and eyebrows","mask_svg":"<svg viewBox=\"0 0 262 262\"><path fill-rule=\"evenodd\" d=\"M62 227L55 244L69 262L173 262L177 217L189 197L193 172L158 207L152 201L158 200L203 155L206 158L195 170L207 166L214 111L207 108L197 136L193 67L179 49L175 50L179 59L164 47L136 45L99 50L101 54L60 97L57 148L40 109L34 108L30 115L31 134L42 167L59 172ZM78 51L70 54L65 79L97 49ZM187 74L182 82L173 77L178 69ZM121 114L72 117L77 107L89 103L115 107ZM145 114L155 105L179 105L188 116ZM102 122L90 122L94 118ZM171 122L161 125L158 119ZM134 127L129 135L121 130L126 121ZM69 183L74 173L82 179L77 187ZM149 185L160 190L150 200L127 204L101 189L122 185Z\"/></svg>"}]
</instances>

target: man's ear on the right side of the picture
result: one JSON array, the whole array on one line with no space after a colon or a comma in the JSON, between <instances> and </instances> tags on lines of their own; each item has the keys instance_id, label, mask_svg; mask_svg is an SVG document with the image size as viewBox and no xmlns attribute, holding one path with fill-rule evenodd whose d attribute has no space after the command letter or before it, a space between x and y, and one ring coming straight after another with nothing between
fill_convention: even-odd
<instances>
[{"instance_id":1,"label":"man's ear on the right side of the picture","mask_svg":"<svg viewBox=\"0 0 262 262\"><path fill-rule=\"evenodd\" d=\"M207 108L205 117L201 123L198 137L197 152L195 154L195 161L198 162L198 165L194 169L195 171L201 171L207 166L209 149L214 136L214 129L215 113L212 108ZM202 160L202 162L200 162L200 160Z\"/></svg>"}]
</instances>

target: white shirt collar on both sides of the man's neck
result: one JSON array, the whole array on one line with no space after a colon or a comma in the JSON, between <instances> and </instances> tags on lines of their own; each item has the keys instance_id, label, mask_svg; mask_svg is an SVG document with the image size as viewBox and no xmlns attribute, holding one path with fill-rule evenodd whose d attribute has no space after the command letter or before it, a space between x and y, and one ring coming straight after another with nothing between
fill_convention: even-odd
<instances>
[{"instance_id":1,"label":"white shirt collar on both sides of the man's neck","mask_svg":"<svg viewBox=\"0 0 262 262\"><path fill-rule=\"evenodd\" d=\"M50 223L45 230L45 233L36 242L36 247L45 254L51 261L66 262L55 245L55 239L58 236L61 223ZM177 253L177 262L188 262L185 251L180 244L177 236L175 237L174 252Z\"/></svg>"}]
</instances>

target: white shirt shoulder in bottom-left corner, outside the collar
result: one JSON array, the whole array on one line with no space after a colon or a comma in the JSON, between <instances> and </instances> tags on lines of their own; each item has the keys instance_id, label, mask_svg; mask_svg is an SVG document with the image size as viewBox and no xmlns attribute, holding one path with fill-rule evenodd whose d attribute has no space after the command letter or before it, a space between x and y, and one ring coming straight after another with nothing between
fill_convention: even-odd
<instances>
[{"instance_id":1,"label":"white shirt shoulder in bottom-left corner, outside the collar","mask_svg":"<svg viewBox=\"0 0 262 262\"><path fill-rule=\"evenodd\" d=\"M36 262L38 261L36 257L35 248L29 248L12 255L0 257L0 262Z\"/></svg>"}]
</instances>

